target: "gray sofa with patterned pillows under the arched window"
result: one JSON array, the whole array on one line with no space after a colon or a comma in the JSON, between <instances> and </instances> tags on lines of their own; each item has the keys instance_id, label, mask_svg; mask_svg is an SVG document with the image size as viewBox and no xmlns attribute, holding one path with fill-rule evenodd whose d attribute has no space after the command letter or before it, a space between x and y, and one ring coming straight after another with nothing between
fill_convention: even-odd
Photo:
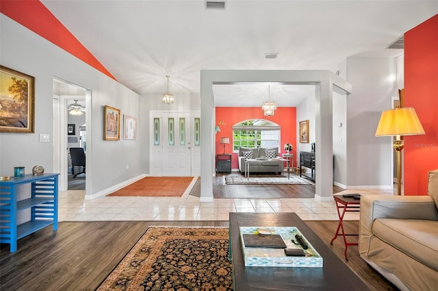
<instances>
[{"instance_id":1,"label":"gray sofa with patterned pillows under the arched window","mask_svg":"<svg viewBox=\"0 0 438 291\"><path fill-rule=\"evenodd\" d=\"M279 173L283 172L283 162L279 161L279 148L263 148L260 147L258 149L249 149L246 147L239 148L239 170L240 173L245 173L245 152L252 152L251 159L255 159L255 161L250 161L249 163L249 171L250 174L253 173ZM268 158L266 151L274 151L274 158Z\"/></svg>"}]
</instances>

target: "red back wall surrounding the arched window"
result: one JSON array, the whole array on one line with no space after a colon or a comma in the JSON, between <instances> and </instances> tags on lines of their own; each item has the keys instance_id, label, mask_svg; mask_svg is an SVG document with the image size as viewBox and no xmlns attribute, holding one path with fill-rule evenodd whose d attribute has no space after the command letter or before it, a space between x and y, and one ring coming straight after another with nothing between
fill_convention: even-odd
<instances>
[{"instance_id":1,"label":"red back wall surrounding the arched window","mask_svg":"<svg viewBox=\"0 0 438 291\"><path fill-rule=\"evenodd\" d=\"M283 144L289 142L294 146L291 153L296 157L296 107L278 107L274 116L264 116L261 107L216 107L216 125L223 121L225 125L220 125L220 131L216 133L216 153L223 153L223 144L220 138L230 138L230 144L225 144L225 153L233 151L233 125L248 119L264 119L272 121L281 126L280 153L286 153ZM294 158L296 164L296 158ZM231 168L239 168L237 153L233 153Z\"/></svg>"}]
</instances>

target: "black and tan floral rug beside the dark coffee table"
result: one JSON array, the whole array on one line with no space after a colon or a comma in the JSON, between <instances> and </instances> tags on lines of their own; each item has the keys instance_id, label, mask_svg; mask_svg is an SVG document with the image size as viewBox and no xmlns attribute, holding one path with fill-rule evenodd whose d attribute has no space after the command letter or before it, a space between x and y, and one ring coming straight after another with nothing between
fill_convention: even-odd
<instances>
[{"instance_id":1,"label":"black and tan floral rug beside the dark coffee table","mask_svg":"<svg viewBox=\"0 0 438 291\"><path fill-rule=\"evenodd\" d=\"M150 227L103 290L233 290L228 228Z\"/></svg>"}]
</instances>

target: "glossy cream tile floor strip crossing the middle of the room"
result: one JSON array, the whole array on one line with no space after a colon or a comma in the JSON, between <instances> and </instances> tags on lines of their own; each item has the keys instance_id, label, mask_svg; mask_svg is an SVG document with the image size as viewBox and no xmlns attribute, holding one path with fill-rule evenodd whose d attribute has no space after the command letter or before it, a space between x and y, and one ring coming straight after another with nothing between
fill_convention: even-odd
<instances>
[{"instance_id":1,"label":"glossy cream tile floor strip crossing the middle of the room","mask_svg":"<svg viewBox=\"0 0 438 291\"><path fill-rule=\"evenodd\" d=\"M338 194L393 194L393 190L349 189ZM229 220L229 212L295 212L302 220L337 220L335 201L315 199L214 199L198 197L99 197L85 200L85 191L60 192L59 221L93 220ZM358 212L346 213L358 220Z\"/></svg>"}]
</instances>

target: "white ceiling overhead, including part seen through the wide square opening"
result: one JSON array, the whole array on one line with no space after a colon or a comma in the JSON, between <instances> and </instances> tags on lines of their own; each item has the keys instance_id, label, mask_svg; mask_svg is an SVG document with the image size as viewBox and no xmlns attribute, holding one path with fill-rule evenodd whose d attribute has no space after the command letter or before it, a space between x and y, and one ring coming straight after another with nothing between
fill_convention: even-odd
<instances>
[{"instance_id":1,"label":"white ceiling overhead, including part seen through the wide square opening","mask_svg":"<svg viewBox=\"0 0 438 291\"><path fill-rule=\"evenodd\" d=\"M175 98L200 91L202 69L335 72L349 56L381 52L438 13L436 0L227 0L225 10L206 10L203 0L42 3L121 84L163 93L170 75ZM279 55L265 60L265 53ZM271 99L291 106L313 90L272 84ZM268 86L215 86L214 97L219 106L259 106Z\"/></svg>"}]
</instances>

